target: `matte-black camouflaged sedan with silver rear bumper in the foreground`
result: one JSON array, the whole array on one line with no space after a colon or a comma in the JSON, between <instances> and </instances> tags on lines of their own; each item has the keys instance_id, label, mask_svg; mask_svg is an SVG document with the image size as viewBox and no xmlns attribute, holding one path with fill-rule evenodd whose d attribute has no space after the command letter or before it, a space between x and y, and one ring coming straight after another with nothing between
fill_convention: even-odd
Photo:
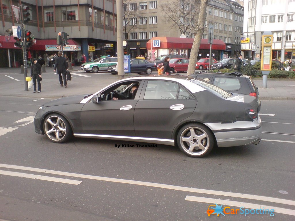
<instances>
[{"instance_id":1,"label":"matte-black camouflaged sedan with silver rear bumper in the foreground","mask_svg":"<svg viewBox=\"0 0 295 221\"><path fill-rule=\"evenodd\" d=\"M72 136L147 142L202 157L214 146L258 144L261 120L256 109L253 96L229 93L203 80L141 76L91 95L49 101L39 107L34 125L36 133L54 143Z\"/></svg>"}]
</instances>

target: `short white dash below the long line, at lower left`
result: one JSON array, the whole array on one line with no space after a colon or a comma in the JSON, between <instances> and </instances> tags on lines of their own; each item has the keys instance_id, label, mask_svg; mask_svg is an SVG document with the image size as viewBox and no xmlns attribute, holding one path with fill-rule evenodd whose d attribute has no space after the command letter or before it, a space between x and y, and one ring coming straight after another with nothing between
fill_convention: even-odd
<instances>
[{"instance_id":1,"label":"short white dash below the long line, at lower left","mask_svg":"<svg viewBox=\"0 0 295 221\"><path fill-rule=\"evenodd\" d=\"M0 170L0 174L12 176L12 177L40 179L40 180L46 180L46 181L52 181L52 182L58 182L58 183L67 183L67 184L73 184L73 185L79 185L80 183L82 183L82 181L78 181L78 180L63 179L63 178L57 178L57 177L47 177L47 176L35 175L35 174L25 174L25 173L5 171L5 170Z\"/></svg>"}]
</instances>

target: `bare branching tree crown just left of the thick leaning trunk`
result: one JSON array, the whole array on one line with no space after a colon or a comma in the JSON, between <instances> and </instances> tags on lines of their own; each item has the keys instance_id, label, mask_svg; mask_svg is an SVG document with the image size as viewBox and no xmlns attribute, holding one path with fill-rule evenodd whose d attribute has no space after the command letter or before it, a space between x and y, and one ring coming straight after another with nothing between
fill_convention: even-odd
<instances>
[{"instance_id":1,"label":"bare branching tree crown just left of the thick leaning trunk","mask_svg":"<svg viewBox=\"0 0 295 221\"><path fill-rule=\"evenodd\" d=\"M191 30L195 29L195 24L198 21L199 10L196 7L196 0L173 0L162 4L161 9L167 16L163 22L171 24L171 28L178 27L181 34L189 33L193 35Z\"/></svg>"}]
</instances>

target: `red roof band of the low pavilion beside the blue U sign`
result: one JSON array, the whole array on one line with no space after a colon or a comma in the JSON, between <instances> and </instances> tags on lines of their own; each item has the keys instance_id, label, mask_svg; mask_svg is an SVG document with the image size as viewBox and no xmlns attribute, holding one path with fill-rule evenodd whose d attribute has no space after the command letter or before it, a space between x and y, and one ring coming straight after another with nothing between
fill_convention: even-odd
<instances>
[{"instance_id":1,"label":"red roof band of the low pavilion beside the blue U sign","mask_svg":"<svg viewBox=\"0 0 295 221\"><path fill-rule=\"evenodd\" d=\"M176 37L154 37L147 42L147 49L151 48L152 40L160 40L160 47L157 48L178 48L191 49L193 46L193 38L176 38ZM221 40L213 40L212 50L225 50L226 45ZM201 39L200 49L209 50L210 44L208 39Z\"/></svg>"}]
</instances>

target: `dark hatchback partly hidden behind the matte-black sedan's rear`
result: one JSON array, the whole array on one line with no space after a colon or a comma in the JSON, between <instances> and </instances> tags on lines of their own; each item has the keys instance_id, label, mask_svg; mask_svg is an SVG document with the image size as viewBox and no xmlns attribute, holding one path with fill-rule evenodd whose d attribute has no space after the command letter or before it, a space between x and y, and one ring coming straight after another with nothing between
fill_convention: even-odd
<instances>
[{"instance_id":1,"label":"dark hatchback partly hidden behind the matte-black sedan's rear","mask_svg":"<svg viewBox=\"0 0 295 221\"><path fill-rule=\"evenodd\" d=\"M258 87L256 87L254 81L250 76L240 75L240 72L233 73L198 73L195 72L189 77L201 78L208 81L211 84L216 85L223 90L230 93L244 94L255 97L257 101L257 113L261 108L261 102L259 100Z\"/></svg>"}]
</instances>

